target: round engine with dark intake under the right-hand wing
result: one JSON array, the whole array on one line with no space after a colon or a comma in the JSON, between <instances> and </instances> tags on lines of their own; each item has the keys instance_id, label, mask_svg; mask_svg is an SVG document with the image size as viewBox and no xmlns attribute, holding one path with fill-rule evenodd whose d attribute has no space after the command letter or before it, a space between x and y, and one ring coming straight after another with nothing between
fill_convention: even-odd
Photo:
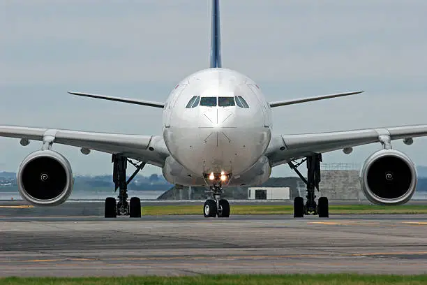
<instances>
[{"instance_id":1,"label":"round engine with dark intake under the right-hand wing","mask_svg":"<svg viewBox=\"0 0 427 285\"><path fill-rule=\"evenodd\" d=\"M407 203L417 187L417 169L411 159L396 149L371 154L360 171L361 189L377 205Z\"/></svg>"}]
</instances>

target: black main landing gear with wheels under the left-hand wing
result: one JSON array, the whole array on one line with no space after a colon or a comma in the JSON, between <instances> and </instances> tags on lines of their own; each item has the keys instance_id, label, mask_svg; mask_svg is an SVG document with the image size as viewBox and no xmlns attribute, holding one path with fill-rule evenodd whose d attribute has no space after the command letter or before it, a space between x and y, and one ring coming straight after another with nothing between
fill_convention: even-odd
<instances>
[{"instance_id":1,"label":"black main landing gear with wheels under the left-hand wing","mask_svg":"<svg viewBox=\"0 0 427 285\"><path fill-rule=\"evenodd\" d=\"M135 166L136 170L126 181L126 168L127 163L131 163ZM133 178L144 168L144 162L140 164L134 163L126 156L119 154L112 155L113 163L113 182L115 185L115 191L119 189L119 201L116 204L114 197L108 197L105 199L105 218L116 218L117 216L129 216L131 218L141 217L141 200L137 197L132 197L128 203L128 184Z\"/></svg>"}]
</instances>

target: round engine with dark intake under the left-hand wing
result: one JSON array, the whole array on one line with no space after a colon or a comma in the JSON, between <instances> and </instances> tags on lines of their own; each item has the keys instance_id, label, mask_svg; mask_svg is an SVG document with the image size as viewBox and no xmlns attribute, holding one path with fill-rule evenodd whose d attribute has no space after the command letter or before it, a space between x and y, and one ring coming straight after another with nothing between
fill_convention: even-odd
<instances>
[{"instance_id":1,"label":"round engine with dark intake under the left-hand wing","mask_svg":"<svg viewBox=\"0 0 427 285\"><path fill-rule=\"evenodd\" d=\"M64 203L73 190L73 182L70 163L52 150L38 150L29 154L17 173L22 198L37 206Z\"/></svg>"}]
</instances>

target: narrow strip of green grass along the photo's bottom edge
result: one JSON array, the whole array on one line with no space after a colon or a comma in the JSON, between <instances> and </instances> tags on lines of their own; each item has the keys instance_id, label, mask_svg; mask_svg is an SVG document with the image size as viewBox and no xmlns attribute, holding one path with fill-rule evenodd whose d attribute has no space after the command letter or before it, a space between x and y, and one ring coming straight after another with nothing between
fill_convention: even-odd
<instances>
[{"instance_id":1,"label":"narrow strip of green grass along the photo's bottom edge","mask_svg":"<svg viewBox=\"0 0 427 285\"><path fill-rule=\"evenodd\" d=\"M79 278L17 278L0 279L0 285L8 284L163 284L163 285L255 285L255 284L289 284L289 285L364 285L364 284L426 284L427 275L200 275L195 277L79 277Z\"/></svg>"}]
</instances>

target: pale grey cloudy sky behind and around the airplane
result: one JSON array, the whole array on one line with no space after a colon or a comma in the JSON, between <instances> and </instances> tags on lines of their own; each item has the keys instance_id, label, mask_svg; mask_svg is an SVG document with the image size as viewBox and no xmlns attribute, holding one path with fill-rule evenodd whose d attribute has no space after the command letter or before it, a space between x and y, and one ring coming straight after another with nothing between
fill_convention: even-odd
<instances>
[{"instance_id":1,"label":"pale grey cloudy sky behind and around the airplane","mask_svg":"<svg viewBox=\"0 0 427 285\"><path fill-rule=\"evenodd\" d=\"M223 67L253 78L269 101L366 90L276 108L276 134L427 124L426 9L421 0L223 0ZM164 101L209 66L210 1L4 0L0 25L0 124L158 135L159 109L66 91ZM427 165L426 146L425 138L394 143L418 165ZM331 152L324 162L362 163L379 147ZM16 171L38 148L0 138L0 170ZM76 174L112 170L109 154L54 149Z\"/></svg>"}]
</instances>

